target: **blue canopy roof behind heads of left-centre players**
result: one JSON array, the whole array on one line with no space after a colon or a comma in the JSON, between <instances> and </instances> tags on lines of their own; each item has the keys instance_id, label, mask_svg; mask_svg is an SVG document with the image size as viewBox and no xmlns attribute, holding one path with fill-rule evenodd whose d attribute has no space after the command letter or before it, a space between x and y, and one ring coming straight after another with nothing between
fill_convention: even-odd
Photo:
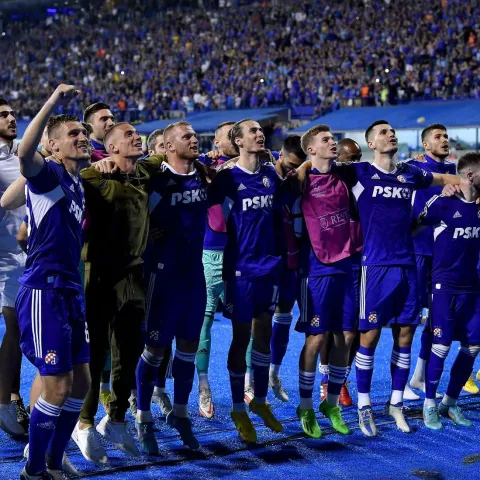
<instances>
[{"instance_id":1,"label":"blue canopy roof behind heads of left-centre players","mask_svg":"<svg viewBox=\"0 0 480 480\"><path fill-rule=\"evenodd\" d=\"M257 108L244 110L215 110L213 112L201 112L187 115L185 119L193 125L197 133L214 132L217 125L223 122L238 122L243 118L252 118L259 122L275 120L280 114L286 113L288 108ZM156 120L154 122L137 125L139 133L149 134L157 128L165 128L168 124L177 120Z\"/></svg>"}]
</instances>

